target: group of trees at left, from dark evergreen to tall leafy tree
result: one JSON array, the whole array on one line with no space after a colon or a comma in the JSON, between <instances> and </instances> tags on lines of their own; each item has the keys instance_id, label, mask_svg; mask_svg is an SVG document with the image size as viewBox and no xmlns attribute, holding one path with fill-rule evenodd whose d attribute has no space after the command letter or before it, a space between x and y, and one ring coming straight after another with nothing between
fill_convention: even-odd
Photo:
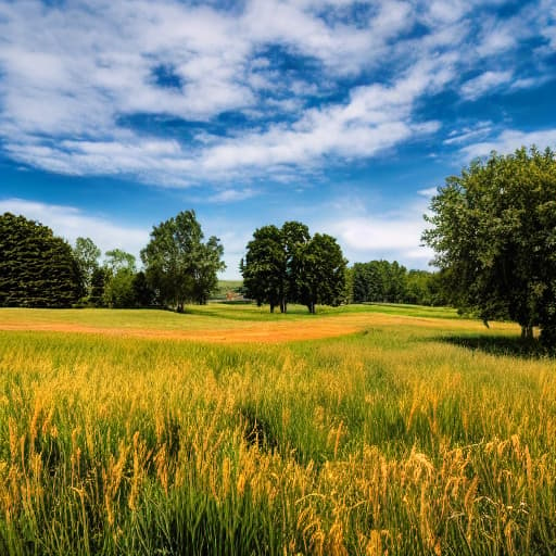
<instances>
[{"instance_id":1,"label":"group of trees at left, from dark evergreen to tall leafy tree","mask_svg":"<svg viewBox=\"0 0 556 556\"><path fill-rule=\"evenodd\" d=\"M205 303L225 268L219 239L204 240L193 211L154 226L141 251L144 270L121 249L104 253L90 238L72 248L24 216L0 216L0 306L146 307Z\"/></svg>"}]
</instances>

